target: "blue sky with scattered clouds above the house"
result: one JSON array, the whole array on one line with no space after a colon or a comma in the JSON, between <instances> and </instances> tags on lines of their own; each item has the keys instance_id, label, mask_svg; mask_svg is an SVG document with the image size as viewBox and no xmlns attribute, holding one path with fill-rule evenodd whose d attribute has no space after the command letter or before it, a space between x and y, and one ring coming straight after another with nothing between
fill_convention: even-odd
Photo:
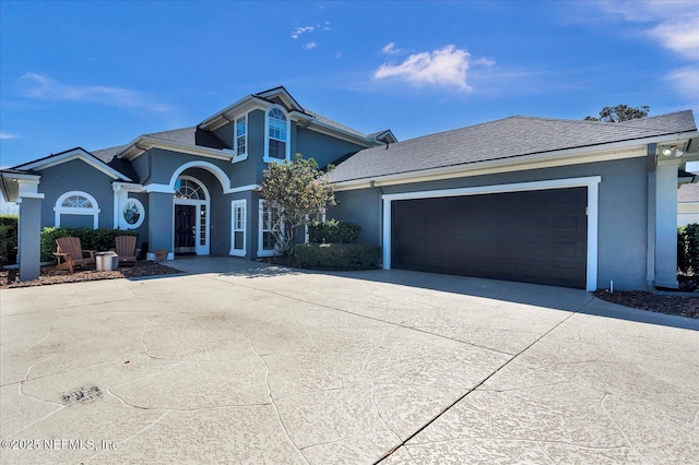
<instances>
[{"instance_id":1,"label":"blue sky with scattered clouds above the house","mask_svg":"<svg viewBox=\"0 0 699 465\"><path fill-rule=\"evenodd\" d=\"M399 140L604 106L699 111L692 2L0 2L0 167L284 85Z\"/></svg>"}]
</instances>

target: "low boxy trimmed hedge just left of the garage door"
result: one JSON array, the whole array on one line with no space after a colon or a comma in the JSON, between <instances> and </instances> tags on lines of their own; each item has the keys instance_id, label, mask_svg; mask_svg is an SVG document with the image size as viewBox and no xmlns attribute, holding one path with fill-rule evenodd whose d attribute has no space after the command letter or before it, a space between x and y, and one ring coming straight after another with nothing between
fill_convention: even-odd
<instances>
[{"instance_id":1,"label":"low boxy trimmed hedge just left of the garage door","mask_svg":"<svg viewBox=\"0 0 699 465\"><path fill-rule=\"evenodd\" d=\"M370 270L378 266L381 248L356 243L301 243L296 246L294 257L305 269Z\"/></svg>"}]
</instances>

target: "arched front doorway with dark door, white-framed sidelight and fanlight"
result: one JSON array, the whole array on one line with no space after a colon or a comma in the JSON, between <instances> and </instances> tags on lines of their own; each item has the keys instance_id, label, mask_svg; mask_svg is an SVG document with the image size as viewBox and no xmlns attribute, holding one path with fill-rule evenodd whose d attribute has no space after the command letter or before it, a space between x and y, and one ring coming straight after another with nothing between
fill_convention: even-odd
<instances>
[{"instance_id":1,"label":"arched front doorway with dark door, white-framed sidelight and fanlight","mask_svg":"<svg viewBox=\"0 0 699 465\"><path fill-rule=\"evenodd\" d=\"M210 253L211 195L199 179L179 176L175 181L175 253Z\"/></svg>"}]
</instances>

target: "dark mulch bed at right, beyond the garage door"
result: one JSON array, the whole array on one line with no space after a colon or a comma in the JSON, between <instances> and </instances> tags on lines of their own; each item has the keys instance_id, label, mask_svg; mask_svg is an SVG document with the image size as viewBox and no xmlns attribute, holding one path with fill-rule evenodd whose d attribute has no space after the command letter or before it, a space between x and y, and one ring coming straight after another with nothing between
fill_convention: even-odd
<instances>
[{"instance_id":1,"label":"dark mulch bed at right, beyond the garage door","mask_svg":"<svg viewBox=\"0 0 699 465\"><path fill-rule=\"evenodd\" d=\"M594 296L602 300L640 310L699 319L699 296L668 296L641 290L614 293L596 290Z\"/></svg>"}]
</instances>

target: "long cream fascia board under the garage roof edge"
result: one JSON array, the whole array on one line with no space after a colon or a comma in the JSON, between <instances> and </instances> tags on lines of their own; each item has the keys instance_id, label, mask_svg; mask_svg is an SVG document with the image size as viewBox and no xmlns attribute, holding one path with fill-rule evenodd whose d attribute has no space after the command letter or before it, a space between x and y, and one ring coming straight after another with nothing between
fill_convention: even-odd
<instances>
[{"instance_id":1,"label":"long cream fascia board under the garage roof edge","mask_svg":"<svg viewBox=\"0 0 699 465\"><path fill-rule=\"evenodd\" d=\"M607 162L615 159L636 158L647 156L647 145L650 143L678 142L695 138L697 131L676 133L662 136L637 139L632 141L615 142L596 147L566 148L511 158L487 162L476 162L464 165L452 165L419 171L400 172L340 181L334 184L336 191L364 189L370 186L393 186L411 182L435 181L471 176L483 176L508 171L523 171L528 169L552 168L567 165Z\"/></svg>"}]
</instances>

